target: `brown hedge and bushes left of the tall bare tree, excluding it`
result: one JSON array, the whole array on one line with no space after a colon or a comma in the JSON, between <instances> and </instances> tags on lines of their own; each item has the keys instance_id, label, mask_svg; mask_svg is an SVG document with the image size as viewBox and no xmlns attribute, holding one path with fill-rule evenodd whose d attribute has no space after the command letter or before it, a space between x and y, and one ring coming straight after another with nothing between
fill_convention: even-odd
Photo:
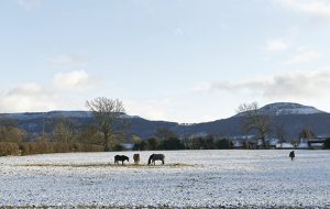
<instances>
[{"instance_id":1,"label":"brown hedge and bushes left of the tall bare tree, excluding it","mask_svg":"<svg viewBox=\"0 0 330 209\"><path fill-rule=\"evenodd\" d=\"M69 119L57 119L51 134L29 136L8 119L0 120L0 155L29 155L65 152L103 151L100 136L91 128L75 129ZM88 140L87 140L88 139Z\"/></svg>"}]
</instances>

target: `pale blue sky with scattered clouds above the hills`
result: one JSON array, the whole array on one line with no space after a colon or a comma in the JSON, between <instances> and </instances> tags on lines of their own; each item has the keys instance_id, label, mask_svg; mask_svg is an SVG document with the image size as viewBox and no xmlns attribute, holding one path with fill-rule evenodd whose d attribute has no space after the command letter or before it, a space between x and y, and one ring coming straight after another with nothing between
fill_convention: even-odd
<instances>
[{"instance_id":1,"label":"pale blue sky with scattered clouds above the hills","mask_svg":"<svg viewBox=\"0 0 330 209\"><path fill-rule=\"evenodd\" d=\"M119 98L152 120L330 112L330 0L0 1L0 112Z\"/></svg>"}]
</instances>

